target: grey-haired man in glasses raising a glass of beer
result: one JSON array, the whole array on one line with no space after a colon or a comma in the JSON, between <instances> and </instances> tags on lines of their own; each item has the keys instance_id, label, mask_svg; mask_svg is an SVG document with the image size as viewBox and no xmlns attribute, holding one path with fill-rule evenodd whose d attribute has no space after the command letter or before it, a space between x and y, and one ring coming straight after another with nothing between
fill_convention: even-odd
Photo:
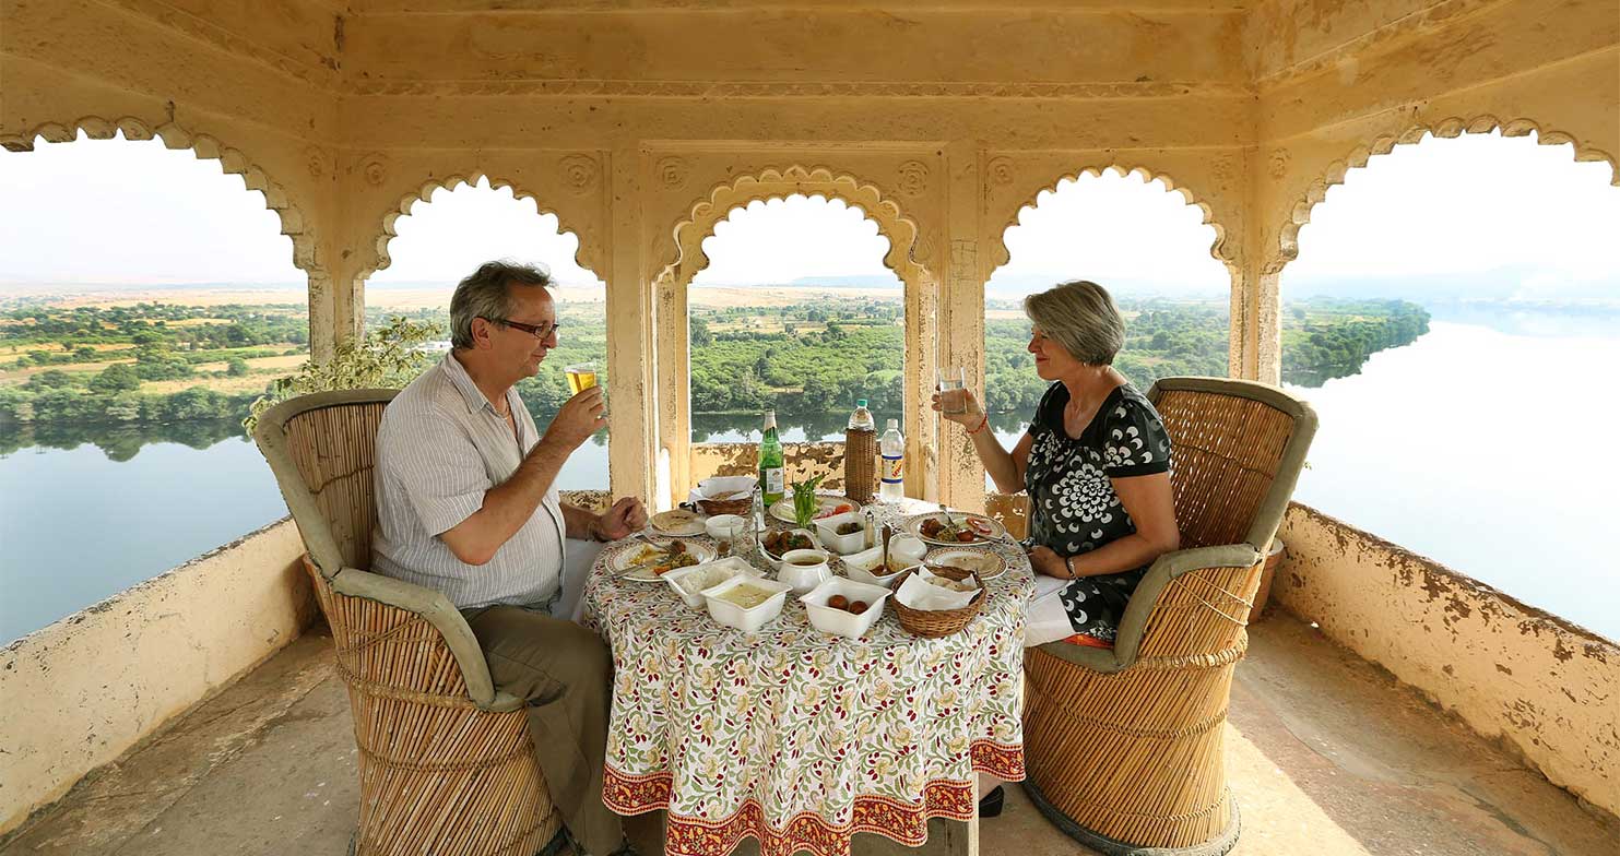
<instances>
[{"instance_id":1,"label":"grey-haired man in glasses raising a glass of beer","mask_svg":"<svg viewBox=\"0 0 1620 856\"><path fill-rule=\"evenodd\" d=\"M604 515L562 505L557 472L606 424L603 390L570 398L544 435L514 384L557 346L551 277L488 262L455 286L444 361L405 387L377 427L374 570L442 591L473 628L497 689L528 699L551 798L586 853L620 848L603 806L612 657L572 623L598 549L646 524L632 497ZM578 540L575 540L578 544Z\"/></svg>"}]
</instances>

